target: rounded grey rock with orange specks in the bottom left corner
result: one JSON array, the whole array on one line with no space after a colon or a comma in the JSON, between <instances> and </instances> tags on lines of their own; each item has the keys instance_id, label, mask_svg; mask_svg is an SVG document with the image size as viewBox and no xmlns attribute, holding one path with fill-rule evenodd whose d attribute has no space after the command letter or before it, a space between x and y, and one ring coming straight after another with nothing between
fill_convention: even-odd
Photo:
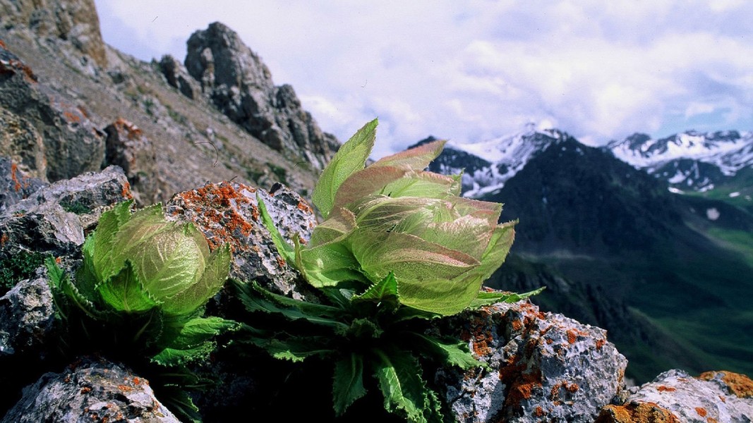
<instances>
[{"instance_id":1,"label":"rounded grey rock with orange specks in the bottom left corner","mask_svg":"<svg viewBox=\"0 0 753 423\"><path fill-rule=\"evenodd\" d=\"M179 423L149 387L127 368L107 361L72 364L45 373L23 390L23 398L0 423Z\"/></svg>"}]
</instances>

